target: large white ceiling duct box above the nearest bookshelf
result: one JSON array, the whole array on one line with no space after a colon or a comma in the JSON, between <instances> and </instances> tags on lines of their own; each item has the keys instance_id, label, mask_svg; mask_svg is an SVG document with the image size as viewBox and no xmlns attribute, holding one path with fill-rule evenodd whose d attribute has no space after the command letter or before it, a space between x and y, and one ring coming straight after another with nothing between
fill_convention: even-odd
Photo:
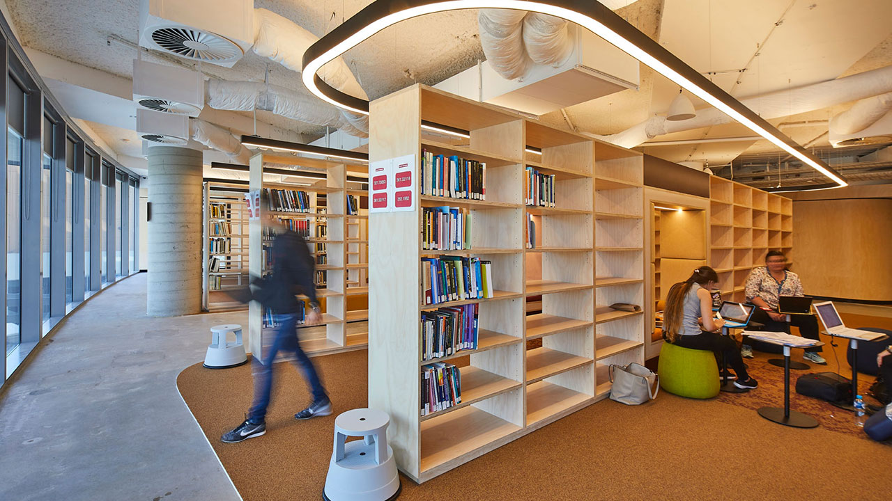
<instances>
[{"instance_id":1,"label":"large white ceiling duct box above the nearest bookshelf","mask_svg":"<svg viewBox=\"0 0 892 501\"><path fill-rule=\"evenodd\" d=\"M533 115L544 115L626 89L638 89L639 62L588 29L539 18L529 22L524 18L523 23L511 21L516 30L514 38L506 35L504 44L490 49L487 49L488 36L481 31L481 43L490 59L435 87ZM528 26L536 27L538 34L533 35L533 29ZM522 30L526 48L516 41L516 34ZM531 44L535 47L532 50ZM502 51L509 53L501 57ZM537 63L531 54L538 61L550 63ZM505 75L518 77L506 79Z\"/></svg>"}]
</instances>

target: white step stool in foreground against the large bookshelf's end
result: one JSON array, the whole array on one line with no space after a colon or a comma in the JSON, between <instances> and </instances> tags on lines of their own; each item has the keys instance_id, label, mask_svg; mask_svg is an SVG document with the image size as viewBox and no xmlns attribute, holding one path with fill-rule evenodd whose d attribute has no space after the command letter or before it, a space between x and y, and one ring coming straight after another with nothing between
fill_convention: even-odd
<instances>
[{"instance_id":1,"label":"white step stool in foreground against the large bookshelf's end","mask_svg":"<svg viewBox=\"0 0 892 501\"><path fill-rule=\"evenodd\" d=\"M402 485L393 449L387 445L390 416L353 409L335 419L335 451L328 464L326 501L391 501ZM347 437L362 437L346 443Z\"/></svg>"}]
</instances>

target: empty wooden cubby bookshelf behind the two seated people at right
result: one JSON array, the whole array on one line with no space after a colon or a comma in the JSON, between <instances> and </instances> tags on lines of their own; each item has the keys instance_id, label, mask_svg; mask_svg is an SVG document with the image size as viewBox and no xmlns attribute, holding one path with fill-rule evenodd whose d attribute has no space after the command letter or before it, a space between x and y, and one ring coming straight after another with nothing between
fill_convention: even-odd
<instances>
[{"instance_id":1,"label":"empty wooden cubby bookshelf behind the two seated people at right","mask_svg":"<svg viewBox=\"0 0 892 501\"><path fill-rule=\"evenodd\" d=\"M723 177L709 178L709 263L725 300L746 301L747 276L769 250L793 264L793 201Z\"/></svg>"}]
</instances>

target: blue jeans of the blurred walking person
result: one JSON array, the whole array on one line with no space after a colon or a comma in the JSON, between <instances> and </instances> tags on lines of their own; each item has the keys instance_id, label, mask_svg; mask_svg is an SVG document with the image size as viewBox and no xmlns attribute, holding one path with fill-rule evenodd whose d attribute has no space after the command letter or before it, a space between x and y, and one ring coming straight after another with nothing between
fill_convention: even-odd
<instances>
[{"instance_id":1,"label":"blue jeans of the blurred walking person","mask_svg":"<svg viewBox=\"0 0 892 501\"><path fill-rule=\"evenodd\" d=\"M313 394L313 401L326 400L326 389L322 387L319 376L316 373L316 367L310 362L310 357L301 349L301 344L297 339L297 314L273 315L273 322L278 324L276 328L276 339L273 341L272 347L263 359L260 365L257 359L254 359L254 404L248 411L248 421L252 423L262 423L267 415L267 407L269 406L269 394L273 388L273 362L279 351L285 353L294 353L294 365L303 373L310 391Z\"/></svg>"}]
</instances>

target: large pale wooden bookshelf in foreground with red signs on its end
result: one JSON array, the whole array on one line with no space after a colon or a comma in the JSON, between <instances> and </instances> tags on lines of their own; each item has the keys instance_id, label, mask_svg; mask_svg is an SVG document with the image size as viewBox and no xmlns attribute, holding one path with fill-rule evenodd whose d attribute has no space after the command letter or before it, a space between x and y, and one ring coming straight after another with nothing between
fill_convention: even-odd
<instances>
[{"instance_id":1,"label":"large pale wooden bookshelf in foreground with red signs on its end","mask_svg":"<svg viewBox=\"0 0 892 501\"><path fill-rule=\"evenodd\" d=\"M369 124L372 165L415 155L419 177L423 150L486 164L485 200L416 186L413 210L369 216L368 404L396 424L402 472L430 480L607 397L610 364L643 363L643 315L608 308L644 297L640 153L421 85L371 103ZM527 205L528 169L549 177L553 204ZM424 249L424 209L442 206L472 216L470 249ZM492 296L425 304L422 259L440 256L490 261ZM467 304L476 348L422 361L423 312ZM422 415L420 367L434 362L458 366L461 401Z\"/></svg>"}]
</instances>

